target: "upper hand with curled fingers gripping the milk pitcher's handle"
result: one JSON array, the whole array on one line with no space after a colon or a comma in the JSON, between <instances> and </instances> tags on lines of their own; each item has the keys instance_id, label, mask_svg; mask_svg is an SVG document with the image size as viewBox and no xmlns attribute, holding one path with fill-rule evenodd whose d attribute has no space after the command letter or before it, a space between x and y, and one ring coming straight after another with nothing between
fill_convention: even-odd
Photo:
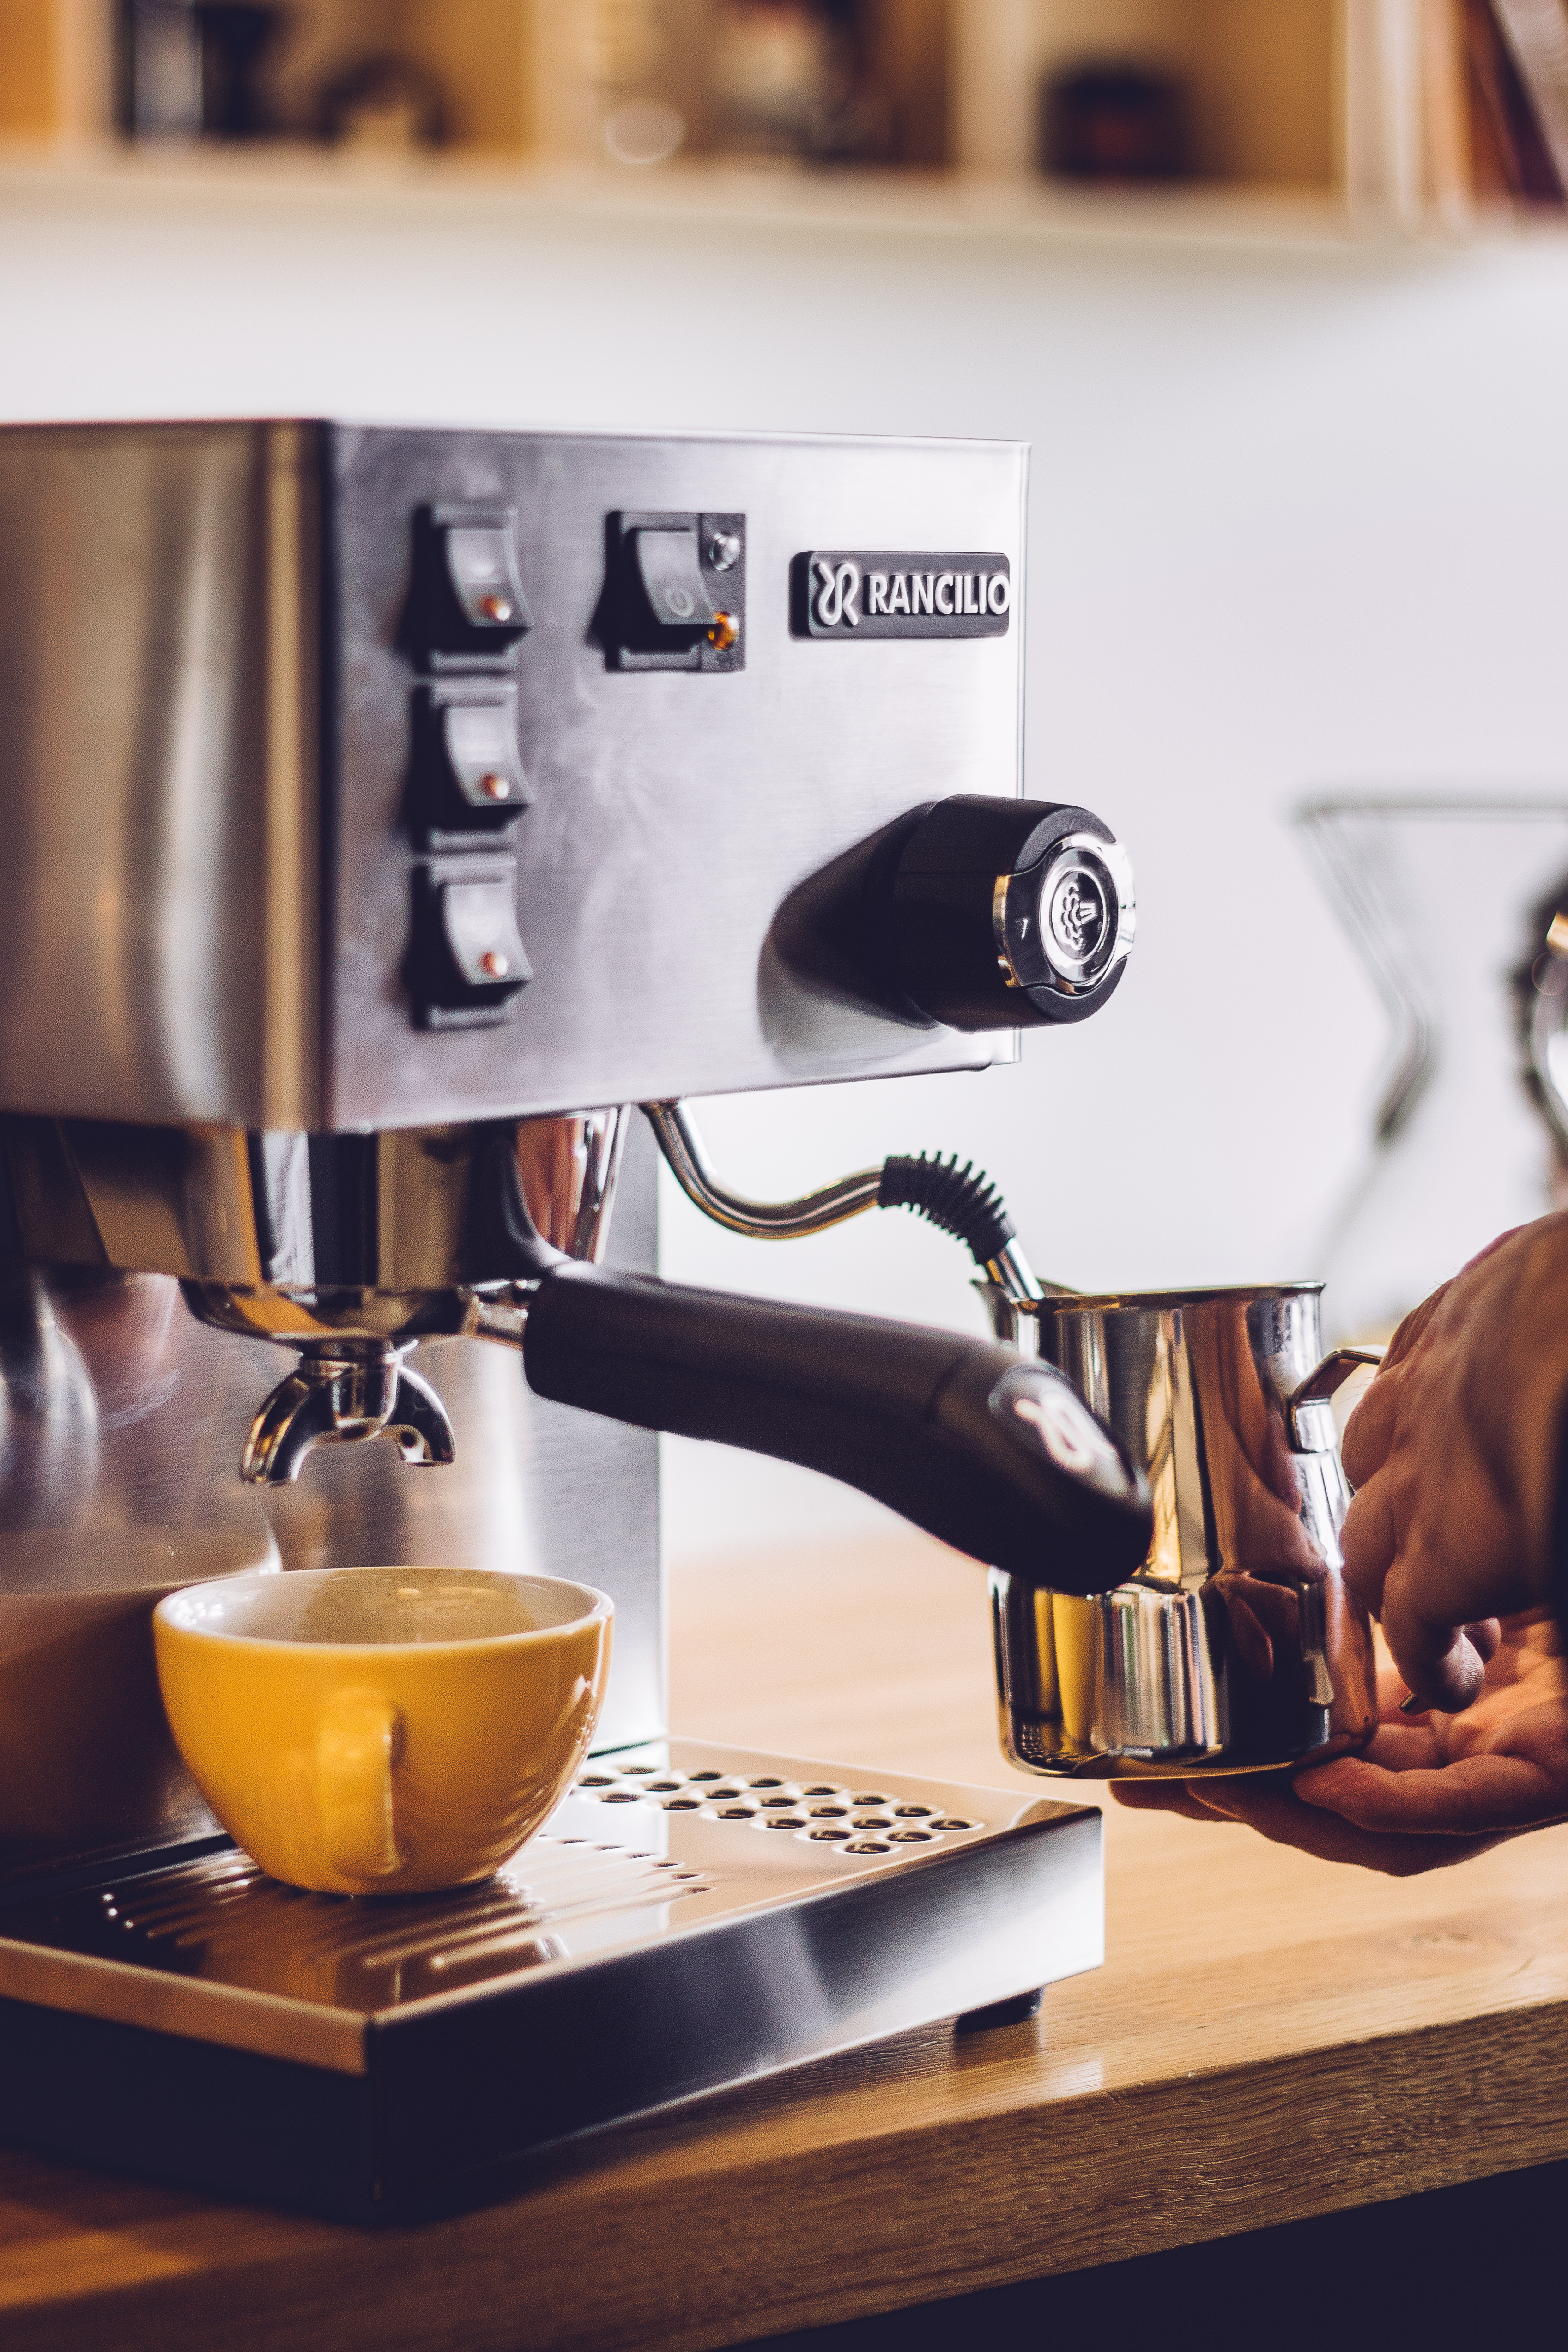
<instances>
[{"instance_id":1,"label":"upper hand with curled fingers gripping the milk pitcher's handle","mask_svg":"<svg viewBox=\"0 0 1568 2352\"><path fill-rule=\"evenodd\" d=\"M1345 1430L1345 1581L1422 1703L1483 1684L1497 1613L1549 1597L1568 1392L1568 1214L1502 1235L1406 1315Z\"/></svg>"}]
</instances>

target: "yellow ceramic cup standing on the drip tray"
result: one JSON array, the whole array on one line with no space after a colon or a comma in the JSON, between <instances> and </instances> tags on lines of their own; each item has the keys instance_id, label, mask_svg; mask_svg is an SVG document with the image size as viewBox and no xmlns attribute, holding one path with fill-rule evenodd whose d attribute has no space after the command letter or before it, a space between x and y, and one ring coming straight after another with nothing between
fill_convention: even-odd
<instances>
[{"instance_id":1,"label":"yellow ceramic cup standing on the drip tray","mask_svg":"<svg viewBox=\"0 0 1568 2352\"><path fill-rule=\"evenodd\" d=\"M614 1604L496 1569L294 1569L153 1611L190 1778L289 1886L430 1893L487 1879L588 1755Z\"/></svg>"}]
</instances>

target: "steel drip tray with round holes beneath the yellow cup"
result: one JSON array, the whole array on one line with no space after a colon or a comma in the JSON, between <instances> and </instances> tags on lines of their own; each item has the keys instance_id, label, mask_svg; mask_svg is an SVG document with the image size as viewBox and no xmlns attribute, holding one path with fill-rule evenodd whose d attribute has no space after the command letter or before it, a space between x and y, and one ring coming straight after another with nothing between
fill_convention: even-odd
<instances>
[{"instance_id":1,"label":"steel drip tray with round holes beneath the yellow cup","mask_svg":"<svg viewBox=\"0 0 1568 2352\"><path fill-rule=\"evenodd\" d=\"M1098 1966L1103 1917L1093 1809L672 1740L592 1759L449 1896L299 1893L212 1839L7 1889L0 2136L409 2216L581 2131L1006 2013Z\"/></svg>"}]
</instances>

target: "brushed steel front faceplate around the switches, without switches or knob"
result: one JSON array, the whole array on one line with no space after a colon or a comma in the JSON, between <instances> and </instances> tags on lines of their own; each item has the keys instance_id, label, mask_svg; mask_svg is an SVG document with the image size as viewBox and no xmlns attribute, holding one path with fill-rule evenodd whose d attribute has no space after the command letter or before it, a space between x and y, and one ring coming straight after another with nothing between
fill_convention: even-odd
<instances>
[{"instance_id":1,"label":"brushed steel front faceplate around the switches, without switches or knob","mask_svg":"<svg viewBox=\"0 0 1568 2352\"><path fill-rule=\"evenodd\" d=\"M785 896L903 809L1020 788L1020 652L790 635L811 546L987 546L1023 572L1025 452L865 440L635 440L331 428L339 861L331 1127L559 1110L978 1068L1006 1037L919 1030L813 990L769 931ZM411 515L517 508L534 628L517 656L534 807L510 835L536 978L503 1028L425 1035L402 955L416 670L397 647ZM607 670L604 517L748 515L745 670Z\"/></svg>"}]
</instances>

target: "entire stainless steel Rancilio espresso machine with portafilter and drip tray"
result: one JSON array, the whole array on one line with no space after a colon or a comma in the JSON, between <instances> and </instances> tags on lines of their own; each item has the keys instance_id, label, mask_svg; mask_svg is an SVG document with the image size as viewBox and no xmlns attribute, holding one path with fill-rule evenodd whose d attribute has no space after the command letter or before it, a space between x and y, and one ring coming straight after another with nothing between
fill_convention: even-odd
<instances>
[{"instance_id":1,"label":"entire stainless steel Rancilio espresso machine with portafilter and drip tray","mask_svg":"<svg viewBox=\"0 0 1568 2352\"><path fill-rule=\"evenodd\" d=\"M656 1277L663 1150L750 1232L914 1207L1032 1327L980 1178L745 1202L686 1108L1117 988L1121 844L1018 797L1023 494L1011 445L0 433L0 2133L374 2218L1098 1962L1093 1809L670 1740L663 1679L658 1430L1058 1592L1150 1543L1027 1345ZM273 1886L169 1745L158 1595L369 1562L616 1602L487 1889Z\"/></svg>"}]
</instances>

